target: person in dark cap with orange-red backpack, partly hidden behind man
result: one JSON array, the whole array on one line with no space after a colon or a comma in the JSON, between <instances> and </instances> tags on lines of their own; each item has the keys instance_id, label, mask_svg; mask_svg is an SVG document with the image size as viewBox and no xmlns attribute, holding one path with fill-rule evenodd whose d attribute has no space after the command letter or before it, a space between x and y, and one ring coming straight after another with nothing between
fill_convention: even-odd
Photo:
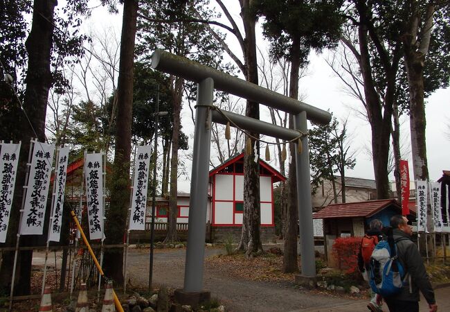
<instances>
[{"instance_id":1,"label":"person in dark cap with orange-red backpack, partly hidden behind man","mask_svg":"<svg viewBox=\"0 0 450 312\"><path fill-rule=\"evenodd\" d=\"M364 279L368 281L368 271L370 270L370 257L375 249L375 246L381 239L383 239L383 223L378 219L373 219L369 223L369 230L361 240L361 247L358 253L358 268L362 273ZM367 308L373 312L379 312L381 310L381 304L377 304L377 294L372 290L372 300L367 304Z\"/></svg>"}]
</instances>

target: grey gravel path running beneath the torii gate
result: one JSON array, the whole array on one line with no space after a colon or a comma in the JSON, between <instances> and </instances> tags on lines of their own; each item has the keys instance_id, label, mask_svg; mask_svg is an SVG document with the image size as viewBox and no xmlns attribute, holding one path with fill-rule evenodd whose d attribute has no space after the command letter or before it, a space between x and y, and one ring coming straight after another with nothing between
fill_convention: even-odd
<instances>
[{"instance_id":1,"label":"grey gravel path running beneath the torii gate","mask_svg":"<svg viewBox=\"0 0 450 312\"><path fill-rule=\"evenodd\" d=\"M206 249L205 257L222 253ZM186 250L156 250L154 254L154 284L183 288ZM129 250L129 273L132 286L148 285L148 250ZM145 274L142 274L145 272ZM223 302L228 311L269 312L294 311L320 306L348 303L348 299L317 295L298 289L294 283L267 283L248 281L228 276L226 270L205 266L204 289Z\"/></svg>"}]
</instances>

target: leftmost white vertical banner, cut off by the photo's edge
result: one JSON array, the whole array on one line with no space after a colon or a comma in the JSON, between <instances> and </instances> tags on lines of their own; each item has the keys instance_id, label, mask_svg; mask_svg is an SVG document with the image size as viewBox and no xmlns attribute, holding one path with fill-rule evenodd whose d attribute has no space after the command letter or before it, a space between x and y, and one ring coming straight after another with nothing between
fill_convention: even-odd
<instances>
[{"instance_id":1,"label":"leftmost white vertical banner, cut off by the photo's edge","mask_svg":"<svg viewBox=\"0 0 450 312\"><path fill-rule=\"evenodd\" d=\"M20 143L0 144L0 243L5 243L8 233L20 145Z\"/></svg>"}]
</instances>

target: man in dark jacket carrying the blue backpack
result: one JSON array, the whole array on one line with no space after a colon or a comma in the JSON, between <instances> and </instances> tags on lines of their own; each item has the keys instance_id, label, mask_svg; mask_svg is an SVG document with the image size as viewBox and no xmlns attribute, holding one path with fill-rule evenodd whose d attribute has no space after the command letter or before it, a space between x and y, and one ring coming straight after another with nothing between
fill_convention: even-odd
<instances>
[{"instance_id":1,"label":"man in dark jacket carrying the blue backpack","mask_svg":"<svg viewBox=\"0 0 450 312\"><path fill-rule=\"evenodd\" d=\"M390 226L393 227L393 239L397 245L397 255L405 268L406 278L400 293L383 298L388 304L389 311L418 312L419 291L422 292L426 302L428 302L430 312L438 311L433 287L428 274L426 274L424 261L420 257L417 246L411 241L413 229L408 225L408 219L404 216L393 216L390 218ZM377 301L381 302L381 297Z\"/></svg>"}]
</instances>

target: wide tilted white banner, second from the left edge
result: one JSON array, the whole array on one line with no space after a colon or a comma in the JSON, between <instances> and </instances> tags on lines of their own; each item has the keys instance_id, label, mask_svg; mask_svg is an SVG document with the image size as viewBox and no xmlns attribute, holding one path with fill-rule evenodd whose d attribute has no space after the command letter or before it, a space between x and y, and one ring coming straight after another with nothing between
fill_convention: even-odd
<instances>
[{"instance_id":1,"label":"wide tilted white banner, second from the left edge","mask_svg":"<svg viewBox=\"0 0 450 312\"><path fill-rule=\"evenodd\" d=\"M19 233L42 235L55 145L34 140L31 143L34 143L33 156Z\"/></svg>"}]
</instances>

